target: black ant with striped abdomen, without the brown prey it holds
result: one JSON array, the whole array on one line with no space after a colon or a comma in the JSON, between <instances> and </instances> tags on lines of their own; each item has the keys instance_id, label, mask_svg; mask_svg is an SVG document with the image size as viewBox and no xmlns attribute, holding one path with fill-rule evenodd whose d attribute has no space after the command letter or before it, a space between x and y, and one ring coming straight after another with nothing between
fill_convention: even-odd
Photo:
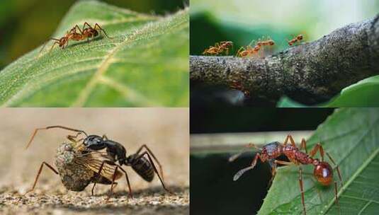
<instances>
[{"instance_id":1,"label":"black ant with striped abdomen, without the brown prey it holds","mask_svg":"<svg viewBox=\"0 0 379 215\"><path fill-rule=\"evenodd\" d=\"M54 125L54 126L48 126L48 127L35 129L32 136L30 137L30 141L28 142L26 148L30 146L31 142L33 141L35 137L35 134L37 134L38 131L45 130L45 129L53 129L53 128L60 128L60 129L66 129L69 131L77 132L77 135L75 136L68 135L67 139L74 142L82 141L82 144L84 145L84 153L86 152L85 151L86 149L89 151L99 151L101 149L106 149L106 153L108 155L109 160L105 160L101 163L100 167L98 168L98 175L100 175L101 170L103 170L104 165L106 164L115 165L115 162L118 161L120 165L131 166L132 169L135 170L135 172L147 182L151 182L154 179L155 173L157 173L158 178L160 182L162 183L162 187L164 188L164 190L172 194L172 192L168 190L166 186L164 185L163 170L162 170L161 163L159 163L158 159L154 156L154 153L152 153L152 151L145 144L140 146L140 149L138 149L136 153L131 154L130 156L127 157L125 147L116 141L112 141L108 139L106 135L103 135L103 136L98 136L94 134L88 135L83 130L72 129L72 128L64 127L60 125ZM86 137L84 139L77 139L80 134L84 134ZM146 151L141 153L142 149L145 149ZM157 162L157 164L159 165L160 174L158 173L158 170L156 166L154 165L152 158L154 158L154 161ZM126 172L125 172L125 175L126 175ZM128 176L126 177L128 178ZM127 180L127 182L128 182L130 196L132 196L132 189L130 187L129 180ZM92 187L92 191L91 191L92 195L94 194L95 185L96 185L96 181L94 182L94 187Z\"/></svg>"}]
</instances>

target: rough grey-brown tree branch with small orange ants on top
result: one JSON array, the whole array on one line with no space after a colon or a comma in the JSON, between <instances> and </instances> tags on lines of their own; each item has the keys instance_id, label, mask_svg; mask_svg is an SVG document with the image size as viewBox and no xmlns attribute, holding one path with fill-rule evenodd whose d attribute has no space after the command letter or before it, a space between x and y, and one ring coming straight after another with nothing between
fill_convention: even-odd
<instances>
[{"instance_id":1,"label":"rough grey-brown tree branch with small orange ants on top","mask_svg":"<svg viewBox=\"0 0 379 215\"><path fill-rule=\"evenodd\" d=\"M264 59L190 56L191 80L231 86L251 95L302 103L329 100L342 88L379 74L379 14Z\"/></svg>"}]
</instances>

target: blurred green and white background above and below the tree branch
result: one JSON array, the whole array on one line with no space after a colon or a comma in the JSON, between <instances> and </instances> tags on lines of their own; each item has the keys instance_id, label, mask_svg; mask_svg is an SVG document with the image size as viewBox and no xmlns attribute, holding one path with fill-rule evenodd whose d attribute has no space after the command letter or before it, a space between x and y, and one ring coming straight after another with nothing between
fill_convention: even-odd
<instances>
[{"instance_id":1,"label":"blurred green and white background above and below the tree branch","mask_svg":"<svg viewBox=\"0 0 379 215\"><path fill-rule=\"evenodd\" d=\"M201 54L215 42L232 40L234 51L251 40L271 37L272 50L288 47L285 40L298 34L317 40L336 28L371 18L379 12L378 0L191 0L190 52ZM191 83L191 107L198 105L275 106L276 100L245 98L221 86Z\"/></svg>"}]
</instances>

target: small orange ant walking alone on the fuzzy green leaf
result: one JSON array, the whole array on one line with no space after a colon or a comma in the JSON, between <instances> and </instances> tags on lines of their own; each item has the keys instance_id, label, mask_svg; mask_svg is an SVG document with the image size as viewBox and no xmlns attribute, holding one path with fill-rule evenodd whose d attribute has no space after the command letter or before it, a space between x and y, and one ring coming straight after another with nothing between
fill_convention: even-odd
<instances>
[{"instance_id":1,"label":"small orange ant walking alone on the fuzzy green leaf","mask_svg":"<svg viewBox=\"0 0 379 215\"><path fill-rule=\"evenodd\" d=\"M86 28L86 25L88 26L87 28ZM77 33L77 30L79 30L79 33ZM63 50L64 47L67 47L67 45L69 45L69 40L81 41L81 40L87 39L87 42L88 42L89 38L97 37L99 32L100 32L100 34L101 34L101 32L103 32L106 35L106 37L108 37L108 35L106 34L106 31L103 30L103 28L101 28L100 25L98 25L98 23L95 24L94 28L92 28L92 26L89 25L89 23L87 23L87 22L84 23L82 29L80 29L78 25L75 25L74 28L67 31L66 35L64 35L60 39L50 38L50 40L55 40L55 42L51 46L49 52L51 52L52 48L56 44L59 45L60 47L62 47L62 50ZM108 38L113 39L113 37L108 37ZM50 40L47 40L47 42L49 42ZM45 45L47 44L47 42L45 42L45 44L43 45L40 52L42 52L42 50L45 48Z\"/></svg>"}]
</instances>

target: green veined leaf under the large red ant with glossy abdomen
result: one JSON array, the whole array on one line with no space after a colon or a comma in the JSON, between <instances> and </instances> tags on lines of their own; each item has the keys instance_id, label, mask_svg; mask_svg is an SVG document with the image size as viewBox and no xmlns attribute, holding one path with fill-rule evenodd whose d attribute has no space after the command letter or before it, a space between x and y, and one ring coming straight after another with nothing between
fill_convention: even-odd
<instances>
[{"instance_id":1,"label":"green veined leaf under the large red ant with glossy abdomen","mask_svg":"<svg viewBox=\"0 0 379 215\"><path fill-rule=\"evenodd\" d=\"M307 141L308 151L321 142L324 150L339 165L344 186L341 187L336 171L334 180L338 182L341 214L379 211L378 140L378 109L344 108L336 110ZM326 161L330 163L328 158ZM311 165L303 165L307 214L339 214L339 207L334 201L334 185L319 185L312 171ZM259 214L301 213L298 167L278 168Z\"/></svg>"}]
</instances>

